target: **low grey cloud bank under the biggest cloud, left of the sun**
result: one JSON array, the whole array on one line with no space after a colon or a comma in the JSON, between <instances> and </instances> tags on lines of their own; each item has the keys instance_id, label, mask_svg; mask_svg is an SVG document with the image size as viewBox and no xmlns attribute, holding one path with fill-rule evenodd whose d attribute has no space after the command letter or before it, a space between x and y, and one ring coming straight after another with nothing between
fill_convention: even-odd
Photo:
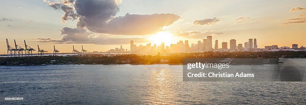
<instances>
[{"instance_id":1,"label":"low grey cloud bank under the biggest cloud, left of the sun","mask_svg":"<svg viewBox=\"0 0 306 105\"><path fill-rule=\"evenodd\" d=\"M109 35L95 36L85 28L64 27L61 29L62 40L40 40L39 42L56 43L56 44L129 44L130 40L139 43L150 42L147 38L125 38L111 37Z\"/></svg>"}]
</instances>

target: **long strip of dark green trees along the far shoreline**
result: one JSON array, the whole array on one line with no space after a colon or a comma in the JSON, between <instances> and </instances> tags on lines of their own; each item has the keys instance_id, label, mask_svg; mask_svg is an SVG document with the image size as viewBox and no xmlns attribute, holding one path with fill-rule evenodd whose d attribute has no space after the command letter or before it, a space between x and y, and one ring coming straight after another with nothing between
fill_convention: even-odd
<instances>
[{"instance_id":1,"label":"long strip of dark green trees along the far shoreline","mask_svg":"<svg viewBox=\"0 0 306 105\"><path fill-rule=\"evenodd\" d=\"M32 57L1 57L0 65L40 65L50 64L120 64L129 59L131 64L160 64L161 59L168 60L168 64L181 64L183 58L301 58L306 57L306 51L277 51L277 52L201 52L176 53L169 55L140 55L121 54L107 57L101 54L87 54L76 56L32 56Z\"/></svg>"}]
</instances>

